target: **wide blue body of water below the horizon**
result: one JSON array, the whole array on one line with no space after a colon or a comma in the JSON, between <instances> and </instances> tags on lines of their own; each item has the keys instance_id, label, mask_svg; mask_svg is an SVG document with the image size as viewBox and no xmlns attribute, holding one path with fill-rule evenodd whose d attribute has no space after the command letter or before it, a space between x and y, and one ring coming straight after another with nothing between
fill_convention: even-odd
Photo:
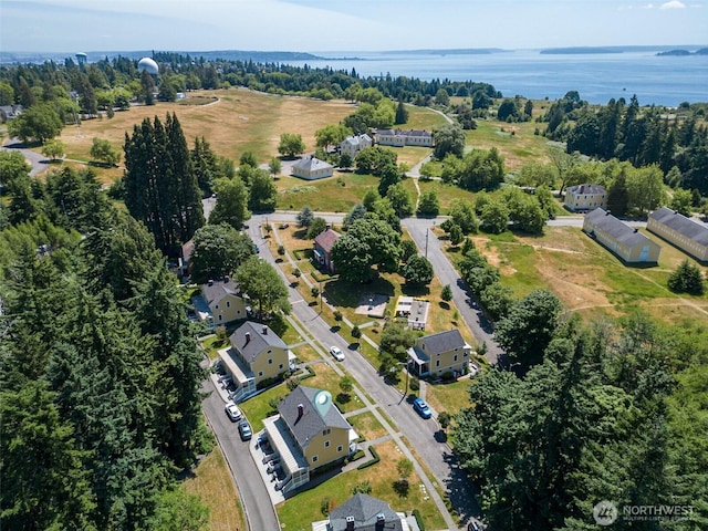
<instances>
[{"instance_id":1,"label":"wide blue body of water below the horizon","mask_svg":"<svg viewBox=\"0 0 708 531\"><path fill-rule=\"evenodd\" d=\"M541 54L538 50L497 53L429 52L319 52L316 61L288 64L334 70L356 69L362 76L417 77L490 83L504 96L517 94L542 100L577 91L582 100L606 104L627 102L636 94L639 105L677 106L708 102L708 55L657 56L653 51L622 53Z\"/></svg>"}]
</instances>

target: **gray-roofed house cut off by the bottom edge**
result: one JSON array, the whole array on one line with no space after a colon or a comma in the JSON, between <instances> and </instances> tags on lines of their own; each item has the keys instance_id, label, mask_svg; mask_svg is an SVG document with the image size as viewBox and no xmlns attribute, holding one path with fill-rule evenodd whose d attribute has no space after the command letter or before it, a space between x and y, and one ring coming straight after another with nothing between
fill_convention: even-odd
<instances>
[{"instance_id":1,"label":"gray-roofed house cut off by the bottom edge","mask_svg":"<svg viewBox=\"0 0 708 531\"><path fill-rule=\"evenodd\" d=\"M312 522L312 531L419 531L414 517L394 511L388 503L357 493L330 511L327 520Z\"/></svg>"}]
</instances>

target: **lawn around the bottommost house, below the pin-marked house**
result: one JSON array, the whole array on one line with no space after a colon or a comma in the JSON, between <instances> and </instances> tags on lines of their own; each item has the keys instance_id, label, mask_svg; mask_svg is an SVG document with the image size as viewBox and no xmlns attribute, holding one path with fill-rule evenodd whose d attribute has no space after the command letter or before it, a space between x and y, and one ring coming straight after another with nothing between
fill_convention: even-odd
<instances>
[{"instance_id":1,"label":"lawn around the bottommost house, below the pin-marked house","mask_svg":"<svg viewBox=\"0 0 708 531\"><path fill-rule=\"evenodd\" d=\"M353 496L352 489L356 485L364 481L368 481L372 488L369 496L386 501L395 511L409 513L418 509L426 529L444 529L445 520L427 492L419 488L421 482L415 471L409 477L407 497L399 496L394 490L394 482L398 480L396 464L404 457L396 444L383 442L376 446L376 451L381 457L378 464L364 470L340 473L280 503L275 510L283 529L310 531L312 522L326 519L321 512L325 498L329 500L330 510L335 509Z\"/></svg>"}]
</instances>

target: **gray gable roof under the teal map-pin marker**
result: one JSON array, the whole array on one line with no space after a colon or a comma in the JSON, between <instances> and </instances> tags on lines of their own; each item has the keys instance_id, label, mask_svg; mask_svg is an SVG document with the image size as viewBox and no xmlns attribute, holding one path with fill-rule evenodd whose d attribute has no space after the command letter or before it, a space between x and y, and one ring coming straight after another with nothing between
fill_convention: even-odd
<instances>
[{"instance_id":1,"label":"gray gable roof under the teal map-pin marker","mask_svg":"<svg viewBox=\"0 0 708 531\"><path fill-rule=\"evenodd\" d=\"M300 448L305 448L310 440L325 428L351 429L336 406L332 405L325 415L321 415L314 406L314 397L320 389L299 385L278 404L280 417L288 424ZM302 405L303 414L299 416L298 406Z\"/></svg>"}]
</instances>

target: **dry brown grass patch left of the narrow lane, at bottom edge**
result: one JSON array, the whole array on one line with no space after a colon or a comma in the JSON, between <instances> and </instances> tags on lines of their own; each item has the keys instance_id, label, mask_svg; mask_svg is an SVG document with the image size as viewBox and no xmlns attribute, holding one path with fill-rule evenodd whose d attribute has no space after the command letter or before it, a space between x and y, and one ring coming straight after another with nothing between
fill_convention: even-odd
<instances>
[{"instance_id":1,"label":"dry brown grass patch left of the narrow lane, at bottom edge","mask_svg":"<svg viewBox=\"0 0 708 531\"><path fill-rule=\"evenodd\" d=\"M218 446L205 457L181 488L209 506L209 530L247 529L239 493Z\"/></svg>"}]
</instances>

